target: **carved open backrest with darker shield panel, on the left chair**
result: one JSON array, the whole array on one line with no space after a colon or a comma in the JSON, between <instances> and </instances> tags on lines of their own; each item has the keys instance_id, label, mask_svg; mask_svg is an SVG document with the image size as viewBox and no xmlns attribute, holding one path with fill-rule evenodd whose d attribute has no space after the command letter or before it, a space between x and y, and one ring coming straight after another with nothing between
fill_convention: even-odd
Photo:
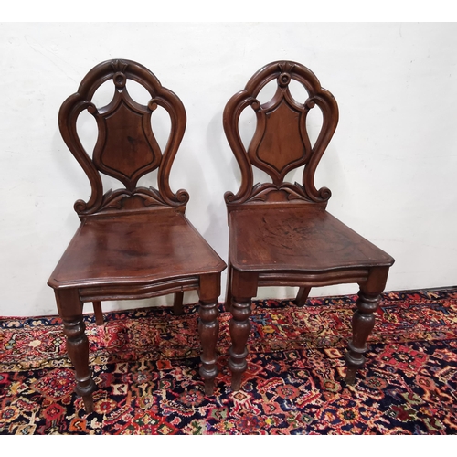
<instances>
[{"instance_id":1,"label":"carved open backrest with darker shield panel, on the left chair","mask_svg":"<svg viewBox=\"0 0 457 457\"><path fill-rule=\"evenodd\" d=\"M92 102L93 95L108 80L113 83L112 101L97 107ZM127 90L128 80L141 84L149 92L151 100L146 106L133 101ZM164 152L151 124L158 106L168 112L171 122ZM83 110L90 112L97 122L98 137L91 156L77 132L77 120ZM97 65L81 81L78 91L62 104L58 126L69 150L90 180L90 199L87 202L78 200L74 206L80 218L166 207L185 211L189 196L183 189L172 192L169 174L186 130L186 111L175 93L165 89L149 69L123 59ZM138 180L155 169L158 169L157 189L137 187ZM118 179L125 188L104 192L101 173Z\"/></svg>"}]
</instances>

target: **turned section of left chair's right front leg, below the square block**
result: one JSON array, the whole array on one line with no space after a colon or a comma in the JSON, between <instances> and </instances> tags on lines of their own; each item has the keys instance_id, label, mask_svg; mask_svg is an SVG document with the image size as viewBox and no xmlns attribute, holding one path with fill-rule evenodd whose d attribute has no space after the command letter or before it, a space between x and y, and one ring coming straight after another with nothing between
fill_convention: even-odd
<instances>
[{"instance_id":1,"label":"turned section of left chair's right front leg, below the square block","mask_svg":"<svg viewBox=\"0 0 457 457\"><path fill-rule=\"evenodd\" d=\"M208 302L200 300L198 314L198 332L202 345L200 356L200 376L205 379L205 393L213 395L214 379L218 376L218 358L216 344L218 342L218 300Z\"/></svg>"}]
</instances>

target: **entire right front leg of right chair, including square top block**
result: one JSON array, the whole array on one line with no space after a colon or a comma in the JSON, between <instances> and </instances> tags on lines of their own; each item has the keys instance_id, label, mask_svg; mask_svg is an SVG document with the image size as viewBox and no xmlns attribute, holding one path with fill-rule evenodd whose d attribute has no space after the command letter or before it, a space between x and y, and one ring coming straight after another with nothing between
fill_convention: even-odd
<instances>
[{"instance_id":1,"label":"entire right front leg of right chair, including square top block","mask_svg":"<svg viewBox=\"0 0 457 457\"><path fill-rule=\"evenodd\" d=\"M367 353L367 338L375 326L375 311L381 292L384 291L388 278L388 268L373 269L366 284L361 285L356 301L356 312L352 318L352 340L349 341L349 350L345 354L347 372L345 382L356 382L357 370L365 365Z\"/></svg>"}]
</instances>

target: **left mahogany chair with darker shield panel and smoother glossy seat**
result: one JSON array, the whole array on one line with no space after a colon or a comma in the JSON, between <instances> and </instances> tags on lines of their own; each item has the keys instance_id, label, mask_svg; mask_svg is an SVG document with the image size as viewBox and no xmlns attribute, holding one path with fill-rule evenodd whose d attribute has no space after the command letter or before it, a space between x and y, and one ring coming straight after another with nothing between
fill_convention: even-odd
<instances>
[{"instance_id":1,"label":"left mahogany chair with darker shield panel and smoother glossy seat","mask_svg":"<svg viewBox=\"0 0 457 457\"><path fill-rule=\"evenodd\" d=\"M113 82L112 101L96 107L91 101L94 92L108 80ZM129 80L149 92L147 106L133 101L127 90ZM151 124L158 106L168 112L171 122L163 153ZM91 158L76 128L83 110L92 114L98 127ZM174 193L169 185L170 169L186 129L183 103L142 65L109 60L91 69L78 92L63 103L58 125L91 186L90 199L75 203L80 228L48 281L56 294L69 357L76 370L76 392L86 411L93 410L92 392L96 389L82 318L86 302L93 303L96 322L102 324L102 301L174 293L175 312L180 313L183 293L197 290L200 374L207 395L211 395L218 373L220 273L226 265L187 220L186 190ZM138 187L139 178L155 169L158 188ZM118 179L125 188L103 193L100 173Z\"/></svg>"}]
</instances>

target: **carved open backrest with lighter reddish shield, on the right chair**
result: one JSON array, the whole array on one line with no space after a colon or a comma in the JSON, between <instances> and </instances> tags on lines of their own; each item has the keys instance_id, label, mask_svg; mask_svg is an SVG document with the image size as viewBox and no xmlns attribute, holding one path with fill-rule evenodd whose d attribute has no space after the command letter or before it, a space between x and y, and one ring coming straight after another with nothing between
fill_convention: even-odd
<instances>
[{"instance_id":1,"label":"carved open backrest with lighter reddish shield, on the right chair","mask_svg":"<svg viewBox=\"0 0 457 457\"><path fill-rule=\"evenodd\" d=\"M277 90L270 101L260 104L257 96L269 82L276 80ZM291 80L302 84L308 97L294 100ZM306 127L308 112L318 106L322 112L321 131L311 145ZM257 125L248 150L239 133L239 116L246 108L256 113ZM326 205L328 188L316 189L315 169L338 123L335 98L321 87L314 73L291 61L272 62L255 73L244 90L236 93L224 110L224 131L241 170L241 186L235 195L226 192L228 212L249 205ZM252 165L271 177L271 183L253 183ZM303 184L284 182L285 175L302 165Z\"/></svg>"}]
</instances>

